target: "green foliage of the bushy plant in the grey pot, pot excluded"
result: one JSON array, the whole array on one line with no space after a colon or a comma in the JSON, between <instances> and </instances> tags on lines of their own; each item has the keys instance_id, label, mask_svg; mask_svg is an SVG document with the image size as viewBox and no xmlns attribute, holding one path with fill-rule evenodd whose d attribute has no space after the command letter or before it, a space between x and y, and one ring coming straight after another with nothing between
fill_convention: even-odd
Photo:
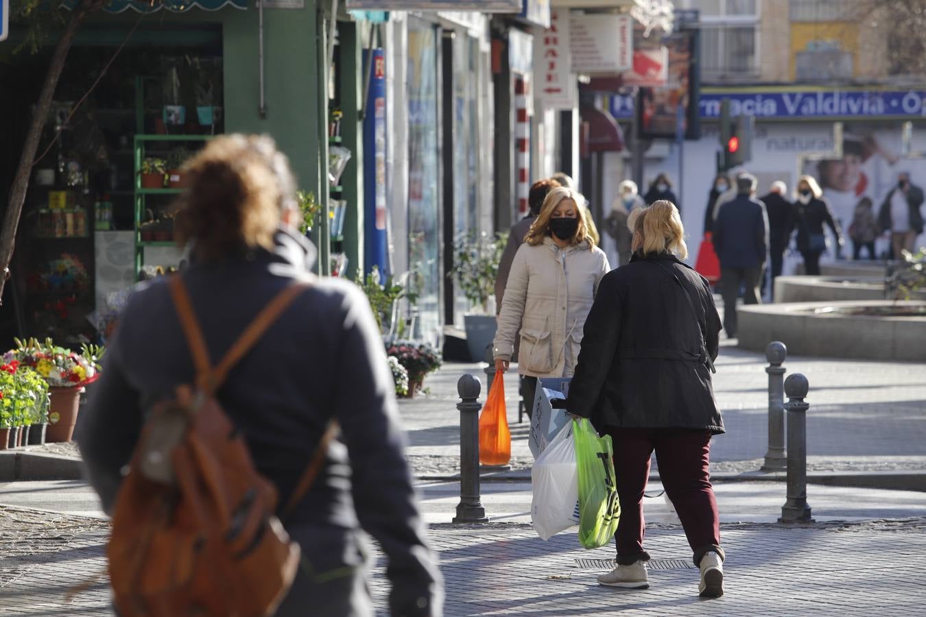
<instances>
[{"instance_id":1,"label":"green foliage of the bushy plant in the grey pot, pot excluded","mask_svg":"<svg viewBox=\"0 0 926 617\"><path fill-rule=\"evenodd\" d=\"M495 291L498 263L507 241L507 232L495 234L492 240L483 232L479 237L469 233L455 243L453 274L466 299L485 314L489 313L489 298Z\"/></svg>"}]
</instances>

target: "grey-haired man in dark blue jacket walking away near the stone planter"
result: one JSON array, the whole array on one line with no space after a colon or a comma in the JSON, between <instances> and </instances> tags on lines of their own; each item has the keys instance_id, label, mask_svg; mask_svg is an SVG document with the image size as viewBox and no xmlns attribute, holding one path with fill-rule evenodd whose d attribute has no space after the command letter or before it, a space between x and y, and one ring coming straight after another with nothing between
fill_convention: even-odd
<instances>
[{"instance_id":1,"label":"grey-haired man in dark blue jacket walking away near the stone planter","mask_svg":"<svg viewBox=\"0 0 926 617\"><path fill-rule=\"evenodd\" d=\"M769 218L765 205L755 198L756 177L736 176L736 197L720 206L714 221L714 249L720 259L720 293L723 295L723 329L736 338L736 299L745 286L744 302L762 302L759 284L769 250Z\"/></svg>"}]
</instances>

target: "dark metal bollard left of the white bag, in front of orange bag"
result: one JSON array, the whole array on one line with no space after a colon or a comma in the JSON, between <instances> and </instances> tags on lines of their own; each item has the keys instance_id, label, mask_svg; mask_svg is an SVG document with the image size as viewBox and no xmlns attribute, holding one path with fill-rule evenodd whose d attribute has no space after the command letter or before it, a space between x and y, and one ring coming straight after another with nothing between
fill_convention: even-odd
<instances>
[{"instance_id":1,"label":"dark metal bollard left of the white bag, in front of orange bag","mask_svg":"<svg viewBox=\"0 0 926 617\"><path fill-rule=\"evenodd\" d=\"M460 401L460 502L454 523L487 523L485 508L479 496L479 410L482 405L479 390L482 384L476 376L466 375L457 381Z\"/></svg>"}]
</instances>

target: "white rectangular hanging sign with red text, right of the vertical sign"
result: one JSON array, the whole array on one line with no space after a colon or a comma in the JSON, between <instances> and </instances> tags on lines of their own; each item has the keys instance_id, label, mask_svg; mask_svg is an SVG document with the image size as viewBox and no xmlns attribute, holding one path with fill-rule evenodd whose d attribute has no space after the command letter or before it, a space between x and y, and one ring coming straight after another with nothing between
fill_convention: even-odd
<instances>
[{"instance_id":1,"label":"white rectangular hanging sign with red text, right of the vertical sign","mask_svg":"<svg viewBox=\"0 0 926 617\"><path fill-rule=\"evenodd\" d=\"M627 15L572 15L569 46L575 73L629 70L633 65L633 20Z\"/></svg>"}]
</instances>

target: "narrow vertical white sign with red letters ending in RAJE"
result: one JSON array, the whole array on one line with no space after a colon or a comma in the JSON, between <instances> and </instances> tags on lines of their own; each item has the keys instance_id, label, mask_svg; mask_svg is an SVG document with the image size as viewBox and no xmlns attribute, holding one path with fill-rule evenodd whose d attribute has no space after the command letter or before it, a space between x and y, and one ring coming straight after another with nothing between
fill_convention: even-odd
<instances>
[{"instance_id":1,"label":"narrow vertical white sign with red letters ending in RAJE","mask_svg":"<svg viewBox=\"0 0 926 617\"><path fill-rule=\"evenodd\" d=\"M550 12L550 27L534 29L534 97L547 109L576 105L576 79L569 61L569 10Z\"/></svg>"}]
</instances>

